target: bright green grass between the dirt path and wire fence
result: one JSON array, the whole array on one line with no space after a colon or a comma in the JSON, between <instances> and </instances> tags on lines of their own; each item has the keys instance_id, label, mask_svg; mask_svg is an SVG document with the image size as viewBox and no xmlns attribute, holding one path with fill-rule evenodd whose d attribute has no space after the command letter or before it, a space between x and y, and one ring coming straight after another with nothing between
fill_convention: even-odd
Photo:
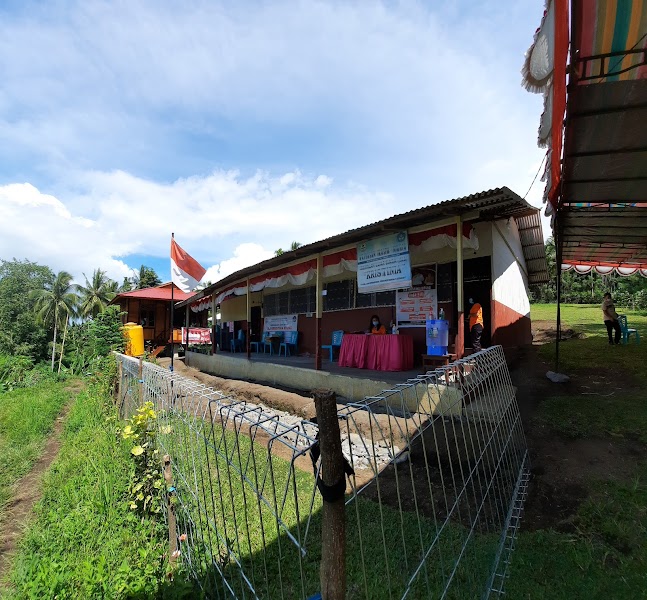
<instances>
[{"instance_id":1,"label":"bright green grass between the dirt path and wire fence","mask_svg":"<svg viewBox=\"0 0 647 600\"><path fill-rule=\"evenodd\" d=\"M9 598L162 596L166 534L128 509L130 447L115 435L114 416L100 386L75 400L16 556ZM183 584L174 585L181 597Z\"/></svg>"}]
</instances>

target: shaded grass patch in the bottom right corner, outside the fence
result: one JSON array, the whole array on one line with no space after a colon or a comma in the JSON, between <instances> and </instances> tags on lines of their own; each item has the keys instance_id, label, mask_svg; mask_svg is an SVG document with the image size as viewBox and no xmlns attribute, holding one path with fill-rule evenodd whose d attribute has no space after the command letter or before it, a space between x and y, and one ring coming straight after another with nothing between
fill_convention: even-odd
<instances>
[{"instance_id":1,"label":"shaded grass patch in the bottom right corner, outside the fence","mask_svg":"<svg viewBox=\"0 0 647 600\"><path fill-rule=\"evenodd\" d=\"M647 468L634 480L596 482L579 508L574 533L519 534L510 598L635 600L647 590Z\"/></svg>"}]
</instances>

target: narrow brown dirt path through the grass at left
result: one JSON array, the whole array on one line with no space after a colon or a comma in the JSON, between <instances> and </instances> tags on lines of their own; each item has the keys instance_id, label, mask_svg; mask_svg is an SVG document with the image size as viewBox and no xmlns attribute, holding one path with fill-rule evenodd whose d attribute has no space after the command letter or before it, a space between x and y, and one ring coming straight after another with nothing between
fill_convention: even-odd
<instances>
[{"instance_id":1,"label":"narrow brown dirt path through the grass at left","mask_svg":"<svg viewBox=\"0 0 647 600\"><path fill-rule=\"evenodd\" d=\"M18 542L31 518L34 504L40 500L42 495L41 482L43 474L49 469L58 455L61 447L63 424L72 406L73 398L76 397L80 388L79 383L74 383L66 388L66 391L73 394L73 397L70 398L61 414L56 418L52 433L32 470L14 485L16 493L8 502L4 519L0 524L0 590L7 585L6 577L9 574Z\"/></svg>"}]
</instances>

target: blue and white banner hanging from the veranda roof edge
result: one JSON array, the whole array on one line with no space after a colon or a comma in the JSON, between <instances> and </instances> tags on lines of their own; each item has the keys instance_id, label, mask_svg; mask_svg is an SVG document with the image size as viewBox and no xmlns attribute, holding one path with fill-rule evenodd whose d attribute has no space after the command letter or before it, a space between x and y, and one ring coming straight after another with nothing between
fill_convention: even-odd
<instances>
[{"instance_id":1,"label":"blue and white banner hanging from the veranda roof edge","mask_svg":"<svg viewBox=\"0 0 647 600\"><path fill-rule=\"evenodd\" d=\"M406 231L357 245L357 291L360 294L410 286L411 262Z\"/></svg>"}]
</instances>

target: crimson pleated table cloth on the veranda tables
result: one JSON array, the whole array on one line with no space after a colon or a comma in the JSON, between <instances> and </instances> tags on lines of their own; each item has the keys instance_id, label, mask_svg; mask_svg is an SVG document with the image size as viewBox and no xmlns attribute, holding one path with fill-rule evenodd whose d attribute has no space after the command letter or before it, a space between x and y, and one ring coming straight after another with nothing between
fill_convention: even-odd
<instances>
[{"instance_id":1,"label":"crimson pleated table cloth on the veranda tables","mask_svg":"<svg viewBox=\"0 0 647 600\"><path fill-rule=\"evenodd\" d=\"M344 334L339 366L372 371L413 369L413 338L408 335Z\"/></svg>"}]
</instances>

